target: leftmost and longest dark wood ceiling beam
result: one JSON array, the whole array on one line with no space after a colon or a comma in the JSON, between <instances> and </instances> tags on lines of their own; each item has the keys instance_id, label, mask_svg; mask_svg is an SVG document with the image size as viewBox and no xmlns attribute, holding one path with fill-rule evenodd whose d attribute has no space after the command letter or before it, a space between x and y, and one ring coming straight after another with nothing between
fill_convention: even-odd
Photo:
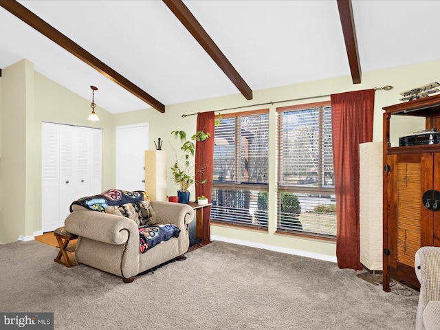
<instances>
[{"instance_id":1,"label":"leftmost and longest dark wood ceiling beam","mask_svg":"<svg viewBox=\"0 0 440 330\"><path fill-rule=\"evenodd\" d=\"M153 107L157 111L162 113L165 112L164 104L153 98L153 96L146 93L146 91L144 91L137 85L131 83L130 80L126 79L121 74L118 74L118 72L115 72L114 69L87 52L87 50L85 50L83 47L81 47L71 39L67 38L67 36L56 30L52 25L43 21L43 19L36 16L36 14L28 10L28 8L25 8L25 6L21 5L15 0L0 0L0 6L3 7L5 10L8 10L8 12L13 14L14 16L21 19L21 21L30 25L32 28L34 28L44 36L47 36L47 38L54 41L54 43L58 44L59 46L63 47L65 50L67 50L67 52L73 54L81 61L96 69L100 74L103 74L114 83L117 83L118 85L120 85L120 87L123 87L131 94L137 96L137 98L140 98L144 102L150 104L151 107Z\"/></svg>"}]
</instances>

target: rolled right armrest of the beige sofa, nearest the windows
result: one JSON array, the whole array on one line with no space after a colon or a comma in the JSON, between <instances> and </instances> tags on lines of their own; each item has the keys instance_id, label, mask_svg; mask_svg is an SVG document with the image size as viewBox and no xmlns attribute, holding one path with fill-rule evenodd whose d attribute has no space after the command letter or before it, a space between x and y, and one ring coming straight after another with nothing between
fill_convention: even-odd
<instances>
[{"instance_id":1,"label":"rolled right armrest of the beige sofa, nearest the windows","mask_svg":"<svg viewBox=\"0 0 440 330\"><path fill-rule=\"evenodd\" d=\"M192 221L194 210L187 204L168 201L151 201L158 223L173 223L180 229Z\"/></svg>"}]
</instances>

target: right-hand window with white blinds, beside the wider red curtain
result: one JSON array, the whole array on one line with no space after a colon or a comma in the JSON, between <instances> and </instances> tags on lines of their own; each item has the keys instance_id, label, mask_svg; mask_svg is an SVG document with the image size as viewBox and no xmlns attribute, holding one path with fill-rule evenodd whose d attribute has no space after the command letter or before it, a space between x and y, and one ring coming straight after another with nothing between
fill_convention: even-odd
<instances>
[{"instance_id":1,"label":"right-hand window with white blinds, beside the wider red curtain","mask_svg":"<svg viewBox=\"0 0 440 330\"><path fill-rule=\"evenodd\" d=\"M336 236L329 102L278 108L277 230Z\"/></svg>"}]
</instances>

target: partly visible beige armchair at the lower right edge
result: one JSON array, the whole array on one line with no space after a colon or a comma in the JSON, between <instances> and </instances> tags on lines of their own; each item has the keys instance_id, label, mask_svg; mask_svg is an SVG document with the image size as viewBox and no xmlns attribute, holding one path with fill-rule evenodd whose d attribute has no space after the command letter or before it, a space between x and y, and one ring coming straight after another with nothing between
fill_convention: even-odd
<instances>
[{"instance_id":1,"label":"partly visible beige armchair at the lower right edge","mask_svg":"<svg viewBox=\"0 0 440 330\"><path fill-rule=\"evenodd\" d=\"M424 246L415 254L420 282L416 330L440 330L440 248Z\"/></svg>"}]
</instances>

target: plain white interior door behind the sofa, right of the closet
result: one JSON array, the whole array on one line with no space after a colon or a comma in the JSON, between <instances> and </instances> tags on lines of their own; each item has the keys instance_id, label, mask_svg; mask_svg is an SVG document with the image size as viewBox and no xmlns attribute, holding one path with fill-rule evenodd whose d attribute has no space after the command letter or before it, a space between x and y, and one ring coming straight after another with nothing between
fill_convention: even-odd
<instances>
[{"instance_id":1,"label":"plain white interior door behind the sofa, right of the closet","mask_svg":"<svg viewBox=\"0 0 440 330\"><path fill-rule=\"evenodd\" d=\"M145 190L148 122L116 127L116 188Z\"/></svg>"}]
</instances>

